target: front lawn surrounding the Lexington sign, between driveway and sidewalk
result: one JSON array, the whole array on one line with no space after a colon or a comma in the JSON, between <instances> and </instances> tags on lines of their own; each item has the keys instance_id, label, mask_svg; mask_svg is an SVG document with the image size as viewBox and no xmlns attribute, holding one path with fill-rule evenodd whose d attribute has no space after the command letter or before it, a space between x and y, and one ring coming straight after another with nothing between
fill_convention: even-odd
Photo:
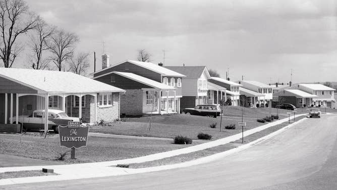
<instances>
[{"instance_id":1,"label":"front lawn surrounding the Lexington sign, between driveway and sidewalk","mask_svg":"<svg viewBox=\"0 0 337 190\"><path fill-rule=\"evenodd\" d=\"M60 161L58 160L60 153L65 153L70 149L60 147L59 140L59 135L48 135L47 138L44 139L40 134L32 135L31 133L30 135L24 135L23 143L20 144L20 135L0 134L0 154L62 163L83 163L135 158L187 147L185 145L175 145L173 141L167 140L89 136L87 147L76 150L77 159L71 160L69 153L64 161ZM199 144L199 142L193 142L192 146L197 144Z\"/></svg>"}]
</instances>

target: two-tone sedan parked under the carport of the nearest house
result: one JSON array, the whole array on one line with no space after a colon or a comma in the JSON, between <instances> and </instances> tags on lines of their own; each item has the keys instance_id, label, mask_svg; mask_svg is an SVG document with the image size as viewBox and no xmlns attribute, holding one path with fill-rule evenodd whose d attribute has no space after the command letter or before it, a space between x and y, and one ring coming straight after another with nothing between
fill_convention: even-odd
<instances>
[{"instance_id":1,"label":"two-tone sedan parked under the carport of the nearest house","mask_svg":"<svg viewBox=\"0 0 337 190\"><path fill-rule=\"evenodd\" d=\"M10 118L10 121L16 123L16 117ZM59 133L59 125L66 126L68 121L80 121L80 118L69 117L62 110L48 110L48 130ZM42 130L44 129L44 110L35 110L31 115L19 115L19 124L23 122L23 130Z\"/></svg>"}]
</instances>

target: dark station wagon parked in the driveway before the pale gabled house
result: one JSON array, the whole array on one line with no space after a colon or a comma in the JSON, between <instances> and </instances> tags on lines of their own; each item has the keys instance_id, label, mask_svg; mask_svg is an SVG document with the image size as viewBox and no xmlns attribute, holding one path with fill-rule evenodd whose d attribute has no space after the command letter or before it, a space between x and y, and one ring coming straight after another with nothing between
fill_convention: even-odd
<instances>
[{"instance_id":1,"label":"dark station wagon parked in the driveway before the pale gabled house","mask_svg":"<svg viewBox=\"0 0 337 190\"><path fill-rule=\"evenodd\" d=\"M195 108L183 109L185 114L200 115L200 116L219 116L221 110L216 105L197 105Z\"/></svg>"}]
</instances>

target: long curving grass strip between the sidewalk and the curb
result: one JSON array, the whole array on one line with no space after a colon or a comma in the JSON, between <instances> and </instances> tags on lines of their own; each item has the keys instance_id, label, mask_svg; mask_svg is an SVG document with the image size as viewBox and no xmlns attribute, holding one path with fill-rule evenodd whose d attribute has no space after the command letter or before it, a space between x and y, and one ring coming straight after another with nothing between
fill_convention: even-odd
<instances>
[{"instance_id":1,"label":"long curving grass strip between the sidewalk and the curb","mask_svg":"<svg viewBox=\"0 0 337 190\"><path fill-rule=\"evenodd\" d=\"M298 121L298 120L300 120L304 117L305 116L298 117L298 118L296 118L296 120ZM291 121L291 123L293 123L293 121ZM248 136L244 137L244 144L250 143L251 141L254 141L258 138L266 136L266 135L268 135L268 134L270 134L274 131L277 131L277 130L287 126L288 124L289 123L287 121L287 122L275 125L273 127L269 127L269 128L264 129L262 131L253 133L251 135L248 135ZM213 155L213 154L216 154L216 153L228 151L230 149L237 148L238 146L241 146L241 145L242 145L242 138L240 138L236 141L233 141L229 144L226 144L226 145L220 145L220 146L212 147L212 148L205 149L205 150L202 150L202 151L197 151L197 152L188 153L188 154L182 154L182 155L164 158L164 159L160 159L160 160L154 160L154 161L150 161L150 162L131 163L130 168L146 168L146 167L154 167L154 166L161 166L161 165L168 165L168 164L178 164L178 163L187 162L187 161L195 160L195 159L198 159L198 158L210 156L210 155Z\"/></svg>"}]
</instances>

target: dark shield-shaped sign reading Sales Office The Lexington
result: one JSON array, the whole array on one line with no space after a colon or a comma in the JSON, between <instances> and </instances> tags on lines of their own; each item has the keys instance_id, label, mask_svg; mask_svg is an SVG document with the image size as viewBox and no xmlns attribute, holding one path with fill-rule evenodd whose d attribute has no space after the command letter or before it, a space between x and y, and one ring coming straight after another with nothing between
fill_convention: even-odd
<instances>
[{"instance_id":1,"label":"dark shield-shaped sign reading Sales Office The Lexington","mask_svg":"<svg viewBox=\"0 0 337 190\"><path fill-rule=\"evenodd\" d=\"M87 146L89 126L81 126L80 122L69 121L68 126L59 126L60 145L67 148Z\"/></svg>"}]
</instances>

